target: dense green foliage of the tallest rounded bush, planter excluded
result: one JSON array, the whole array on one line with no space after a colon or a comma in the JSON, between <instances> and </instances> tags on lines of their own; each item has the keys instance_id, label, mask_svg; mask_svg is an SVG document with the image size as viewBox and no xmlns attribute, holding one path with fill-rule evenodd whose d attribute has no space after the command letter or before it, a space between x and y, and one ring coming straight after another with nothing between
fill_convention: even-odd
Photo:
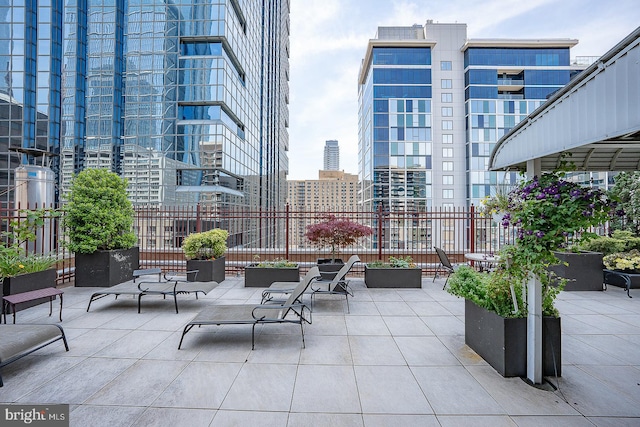
<instances>
[{"instance_id":1,"label":"dense green foliage of the tallest rounded bush, planter excluded","mask_svg":"<svg viewBox=\"0 0 640 427\"><path fill-rule=\"evenodd\" d=\"M70 251L89 254L133 247L133 219L126 179L106 169L85 169L75 176L64 216Z\"/></svg>"}]
</instances>

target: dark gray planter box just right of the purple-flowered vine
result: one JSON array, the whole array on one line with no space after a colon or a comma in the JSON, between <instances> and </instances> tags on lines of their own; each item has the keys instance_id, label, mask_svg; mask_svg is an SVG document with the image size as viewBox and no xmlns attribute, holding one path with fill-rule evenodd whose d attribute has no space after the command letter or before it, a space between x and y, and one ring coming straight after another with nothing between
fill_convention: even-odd
<instances>
[{"instance_id":1,"label":"dark gray planter box just right of the purple-flowered vine","mask_svg":"<svg viewBox=\"0 0 640 427\"><path fill-rule=\"evenodd\" d=\"M600 252L554 252L568 265L554 265L549 269L559 277L569 279L565 291L601 291L602 253Z\"/></svg>"}]
</instances>

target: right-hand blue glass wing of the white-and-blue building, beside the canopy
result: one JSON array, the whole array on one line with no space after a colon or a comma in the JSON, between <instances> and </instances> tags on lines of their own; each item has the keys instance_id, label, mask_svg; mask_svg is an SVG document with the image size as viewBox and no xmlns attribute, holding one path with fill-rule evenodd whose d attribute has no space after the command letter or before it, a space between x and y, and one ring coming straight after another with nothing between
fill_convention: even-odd
<instances>
[{"instance_id":1,"label":"right-hand blue glass wing of the white-and-blue building, beside the canopy","mask_svg":"<svg viewBox=\"0 0 640 427\"><path fill-rule=\"evenodd\" d=\"M570 79L569 47L469 47L464 52L467 203L509 187L516 173L488 172L495 143Z\"/></svg>"}]
</instances>

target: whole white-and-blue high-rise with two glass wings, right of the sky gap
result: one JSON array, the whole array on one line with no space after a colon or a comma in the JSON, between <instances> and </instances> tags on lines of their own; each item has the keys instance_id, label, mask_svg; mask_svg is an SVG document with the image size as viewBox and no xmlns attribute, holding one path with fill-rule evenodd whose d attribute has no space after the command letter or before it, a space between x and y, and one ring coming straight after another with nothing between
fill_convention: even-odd
<instances>
[{"instance_id":1,"label":"whole white-and-blue high-rise with two glass wings, right of the sky gap","mask_svg":"<svg viewBox=\"0 0 640 427\"><path fill-rule=\"evenodd\" d=\"M358 77L363 207L478 205L515 182L515 173L487 171L491 150L569 81L576 43L467 39L466 24L432 21L378 28ZM407 243L422 237L402 227L387 233Z\"/></svg>"}]
</instances>

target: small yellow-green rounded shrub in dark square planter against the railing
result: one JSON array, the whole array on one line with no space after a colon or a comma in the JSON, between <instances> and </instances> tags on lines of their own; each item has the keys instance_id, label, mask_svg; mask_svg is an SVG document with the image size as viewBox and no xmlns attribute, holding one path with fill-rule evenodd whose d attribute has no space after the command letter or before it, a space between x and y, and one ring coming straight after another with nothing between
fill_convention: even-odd
<instances>
[{"instance_id":1,"label":"small yellow-green rounded shrub in dark square planter against the railing","mask_svg":"<svg viewBox=\"0 0 640 427\"><path fill-rule=\"evenodd\" d=\"M220 228L189 234L182 242L187 270L198 270L189 280L222 282L225 279L225 257L229 232Z\"/></svg>"}]
</instances>

